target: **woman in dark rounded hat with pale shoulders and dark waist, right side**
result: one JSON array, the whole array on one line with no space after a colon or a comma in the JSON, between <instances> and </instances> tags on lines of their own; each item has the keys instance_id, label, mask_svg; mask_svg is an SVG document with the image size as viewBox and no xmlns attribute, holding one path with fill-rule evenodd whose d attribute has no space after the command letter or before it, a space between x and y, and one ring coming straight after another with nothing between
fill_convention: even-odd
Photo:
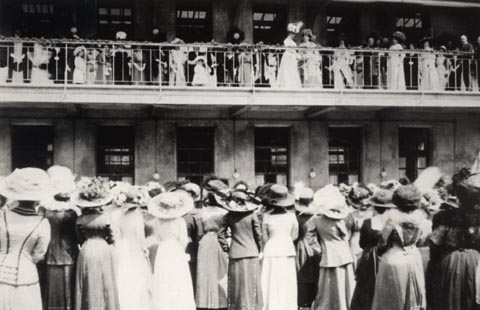
<instances>
[{"instance_id":1,"label":"woman in dark rounded hat with pale shoulders and dark waist, right side","mask_svg":"<svg viewBox=\"0 0 480 310\"><path fill-rule=\"evenodd\" d=\"M425 272L416 245L425 241L431 224L419 210L421 200L413 184L393 193L397 208L385 214L372 310L426 309Z\"/></svg>"}]
</instances>

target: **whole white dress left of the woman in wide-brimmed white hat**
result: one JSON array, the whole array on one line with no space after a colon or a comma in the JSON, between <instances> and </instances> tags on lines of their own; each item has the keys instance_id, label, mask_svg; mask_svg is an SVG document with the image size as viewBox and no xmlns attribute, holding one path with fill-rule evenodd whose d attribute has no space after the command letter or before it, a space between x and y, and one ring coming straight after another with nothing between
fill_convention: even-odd
<instances>
[{"instance_id":1,"label":"whole white dress left of the woman in wide-brimmed white hat","mask_svg":"<svg viewBox=\"0 0 480 310\"><path fill-rule=\"evenodd\" d=\"M151 310L152 274L146 253L143 215L134 209L118 217L118 298L120 310Z\"/></svg>"}]
</instances>

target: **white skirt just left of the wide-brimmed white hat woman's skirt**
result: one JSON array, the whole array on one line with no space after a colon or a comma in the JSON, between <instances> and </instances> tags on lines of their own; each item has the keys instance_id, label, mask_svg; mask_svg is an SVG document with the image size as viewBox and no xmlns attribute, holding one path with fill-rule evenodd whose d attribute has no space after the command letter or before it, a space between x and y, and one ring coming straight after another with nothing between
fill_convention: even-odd
<instances>
[{"instance_id":1,"label":"white skirt just left of the wide-brimmed white hat woman's skirt","mask_svg":"<svg viewBox=\"0 0 480 310\"><path fill-rule=\"evenodd\" d=\"M120 309L152 309L152 274L147 256L140 246L128 240L120 239L117 249Z\"/></svg>"}]
</instances>

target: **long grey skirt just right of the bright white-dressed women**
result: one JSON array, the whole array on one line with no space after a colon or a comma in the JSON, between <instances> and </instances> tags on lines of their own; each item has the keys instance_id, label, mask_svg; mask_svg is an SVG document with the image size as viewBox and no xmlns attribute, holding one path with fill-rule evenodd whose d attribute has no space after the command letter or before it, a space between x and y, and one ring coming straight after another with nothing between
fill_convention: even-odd
<instances>
[{"instance_id":1,"label":"long grey skirt just right of the bright white-dressed women","mask_svg":"<svg viewBox=\"0 0 480 310\"><path fill-rule=\"evenodd\" d=\"M227 308L228 258L222 251L216 232L209 232L198 244L196 295L198 308Z\"/></svg>"}]
</instances>

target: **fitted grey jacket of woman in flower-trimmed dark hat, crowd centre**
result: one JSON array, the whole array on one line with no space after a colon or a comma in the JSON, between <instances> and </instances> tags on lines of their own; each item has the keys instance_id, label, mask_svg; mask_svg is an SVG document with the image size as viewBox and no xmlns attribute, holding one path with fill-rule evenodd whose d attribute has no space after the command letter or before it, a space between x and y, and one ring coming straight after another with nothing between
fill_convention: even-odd
<instances>
[{"instance_id":1,"label":"fitted grey jacket of woman in flower-trimmed dark hat, crowd centre","mask_svg":"<svg viewBox=\"0 0 480 310\"><path fill-rule=\"evenodd\" d=\"M230 228L232 242L227 242L227 230ZM225 216L218 242L232 259L258 257L262 249L262 225L257 212L230 212Z\"/></svg>"}]
</instances>

